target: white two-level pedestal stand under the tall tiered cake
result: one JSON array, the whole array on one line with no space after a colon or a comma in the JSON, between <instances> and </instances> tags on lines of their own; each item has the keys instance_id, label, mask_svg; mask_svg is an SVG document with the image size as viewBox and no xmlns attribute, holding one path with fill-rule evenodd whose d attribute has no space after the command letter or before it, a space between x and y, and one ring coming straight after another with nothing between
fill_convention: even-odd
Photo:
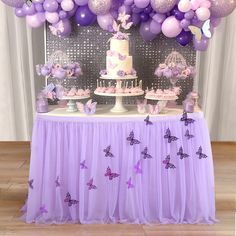
<instances>
[{"instance_id":1,"label":"white two-level pedestal stand under the tall tiered cake","mask_svg":"<svg viewBox=\"0 0 236 236\"><path fill-rule=\"evenodd\" d=\"M104 79L104 80L116 80L116 89L120 89L122 88L122 81L123 80L133 80L133 79L137 79L137 76L124 76L124 77L110 77L108 75L105 76L101 76L100 79ZM116 101L115 101L115 105L114 107L110 110L111 112L114 113L123 113L128 111L123 104L123 97L135 97L135 96L142 96L144 94L144 91L140 92L140 93L98 93L98 92L94 92L94 94L98 95L98 96L109 96L109 97L116 97Z\"/></svg>"}]
</instances>

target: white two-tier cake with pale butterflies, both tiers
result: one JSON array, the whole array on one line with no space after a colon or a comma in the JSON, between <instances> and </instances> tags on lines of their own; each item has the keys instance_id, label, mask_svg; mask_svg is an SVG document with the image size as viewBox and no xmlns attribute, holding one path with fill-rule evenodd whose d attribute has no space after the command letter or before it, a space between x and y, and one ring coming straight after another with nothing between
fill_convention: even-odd
<instances>
[{"instance_id":1,"label":"white two-tier cake with pale butterflies, both tiers","mask_svg":"<svg viewBox=\"0 0 236 236\"><path fill-rule=\"evenodd\" d=\"M110 50L107 51L106 71L108 76L125 76L133 73L133 57L129 55L129 40L110 40Z\"/></svg>"}]
</instances>

